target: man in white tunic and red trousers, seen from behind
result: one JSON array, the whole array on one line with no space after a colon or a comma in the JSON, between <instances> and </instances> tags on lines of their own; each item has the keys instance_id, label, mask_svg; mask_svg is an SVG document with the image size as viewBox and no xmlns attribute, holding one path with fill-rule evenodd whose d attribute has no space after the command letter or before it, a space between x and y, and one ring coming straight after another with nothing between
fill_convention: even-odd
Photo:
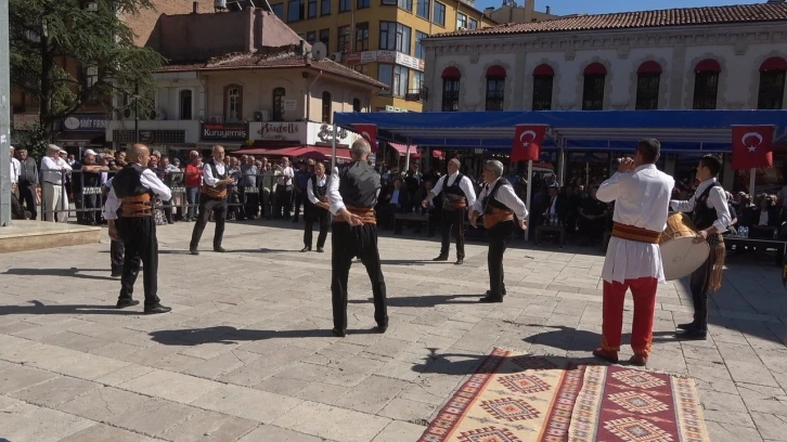
<instances>
[{"instance_id":1,"label":"man in white tunic and red trousers, seen from behind","mask_svg":"<svg viewBox=\"0 0 787 442\"><path fill-rule=\"evenodd\" d=\"M642 140L634 159L620 160L618 172L603 182L596 192L602 202L615 202L612 237L604 260L604 322L602 347L593 355L618 362L623 328L623 302L631 288L634 321L631 347L634 365L647 364L653 340L656 287L665 282L658 242L667 223L670 194L675 181L659 171L661 145L657 140ZM647 204L643 204L647 202Z\"/></svg>"}]
</instances>

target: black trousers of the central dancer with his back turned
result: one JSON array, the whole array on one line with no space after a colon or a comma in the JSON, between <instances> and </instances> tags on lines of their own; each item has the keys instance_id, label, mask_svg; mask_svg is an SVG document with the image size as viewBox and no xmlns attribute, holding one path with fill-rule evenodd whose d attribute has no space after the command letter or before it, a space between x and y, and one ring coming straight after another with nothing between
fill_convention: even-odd
<instances>
[{"instance_id":1,"label":"black trousers of the central dancer with his back turned","mask_svg":"<svg viewBox=\"0 0 787 442\"><path fill-rule=\"evenodd\" d=\"M347 329L347 278L352 259L357 256L366 268L374 296L374 320L387 324L385 278L377 251L377 225L350 226L335 222L331 236L331 296L334 309L334 328Z\"/></svg>"}]
</instances>

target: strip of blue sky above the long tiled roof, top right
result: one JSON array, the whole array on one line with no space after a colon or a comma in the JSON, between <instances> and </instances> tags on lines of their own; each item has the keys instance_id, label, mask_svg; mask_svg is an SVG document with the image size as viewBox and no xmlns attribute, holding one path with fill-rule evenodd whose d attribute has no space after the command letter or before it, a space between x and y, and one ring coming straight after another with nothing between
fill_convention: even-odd
<instances>
[{"instance_id":1,"label":"strip of blue sky above the long tiled roof, top right","mask_svg":"<svg viewBox=\"0 0 787 442\"><path fill-rule=\"evenodd\" d=\"M516 0L516 2L521 5L524 0ZM536 0L536 10L543 12L549 5L552 6L552 13L557 15L577 14L582 12L588 14L605 14L609 12L720 6L725 4L751 4L764 2L765 0ZM483 11L485 8L489 6L500 8L502 3L503 0L476 0L476 9Z\"/></svg>"}]
</instances>

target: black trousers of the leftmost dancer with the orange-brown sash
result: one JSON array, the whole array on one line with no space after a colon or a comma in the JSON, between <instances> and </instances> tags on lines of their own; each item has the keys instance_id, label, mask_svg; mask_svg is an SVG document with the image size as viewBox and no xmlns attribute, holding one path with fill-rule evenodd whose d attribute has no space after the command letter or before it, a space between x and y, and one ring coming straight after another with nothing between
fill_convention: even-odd
<instances>
[{"instance_id":1,"label":"black trousers of the leftmost dancer with the orange-brown sash","mask_svg":"<svg viewBox=\"0 0 787 442\"><path fill-rule=\"evenodd\" d=\"M145 307L157 304L158 299L158 239L154 217L120 218L116 221L122 239L125 253L120 299L131 299L134 283L140 273L140 262L144 270L142 283L145 289Z\"/></svg>"}]
</instances>

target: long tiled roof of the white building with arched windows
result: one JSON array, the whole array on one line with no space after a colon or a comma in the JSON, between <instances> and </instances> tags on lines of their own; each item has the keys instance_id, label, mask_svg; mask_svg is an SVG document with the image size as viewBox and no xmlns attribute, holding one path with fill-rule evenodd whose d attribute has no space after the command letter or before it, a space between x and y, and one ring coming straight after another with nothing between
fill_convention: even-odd
<instances>
[{"instance_id":1,"label":"long tiled roof of the white building with arched windows","mask_svg":"<svg viewBox=\"0 0 787 442\"><path fill-rule=\"evenodd\" d=\"M736 4L732 6L682 8L579 15L536 23L507 23L481 29L438 34L433 37L470 37L757 22L787 22L787 3Z\"/></svg>"}]
</instances>

